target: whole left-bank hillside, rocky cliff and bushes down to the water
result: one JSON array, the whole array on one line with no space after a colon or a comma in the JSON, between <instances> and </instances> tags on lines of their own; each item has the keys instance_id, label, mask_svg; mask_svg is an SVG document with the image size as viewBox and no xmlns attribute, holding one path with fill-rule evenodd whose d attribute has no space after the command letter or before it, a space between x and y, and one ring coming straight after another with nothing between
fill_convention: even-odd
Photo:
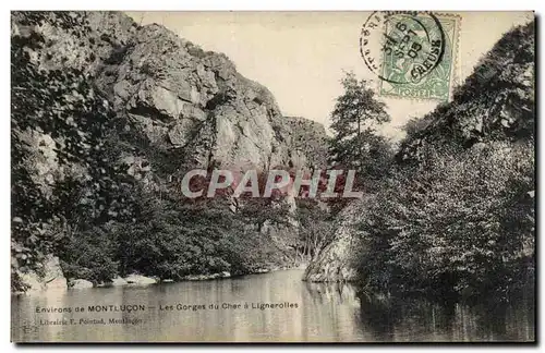
<instances>
[{"instance_id":1,"label":"whole left-bank hillside, rocky cliff and bushes down to the water","mask_svg":"<svg viewBox=\"0 0 545 353\"><path fill-rule=\"evenodd\" d=\"M283 117L225 54L160 25L117 12L13 12L11 24L15 289L44 287L57 257L95 284L293 265L295 251L267 234L244 240L252 221L228 202L192 211L177 181L191 168L323 166L324 126Z\"/></svg>"}]
</instances>

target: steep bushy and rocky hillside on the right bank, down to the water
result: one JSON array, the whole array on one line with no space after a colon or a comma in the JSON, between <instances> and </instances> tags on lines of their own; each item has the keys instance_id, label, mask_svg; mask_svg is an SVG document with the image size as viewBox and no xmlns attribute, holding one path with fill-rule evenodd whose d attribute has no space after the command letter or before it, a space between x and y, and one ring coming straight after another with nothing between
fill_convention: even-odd
<instances>
[{"instance_id":1,"label":"steep bushy and rocky hillside on the right bank, down to the water","mask_svg":"<svg viewBox=\"0 0 545 353\"><path fill-rule=\"evenodd\" d=\"M506 33L452 101L410 121L392 176L338 215L306 280L506 295L532 278L534 26Z\"/></svg>"}]
</instances>

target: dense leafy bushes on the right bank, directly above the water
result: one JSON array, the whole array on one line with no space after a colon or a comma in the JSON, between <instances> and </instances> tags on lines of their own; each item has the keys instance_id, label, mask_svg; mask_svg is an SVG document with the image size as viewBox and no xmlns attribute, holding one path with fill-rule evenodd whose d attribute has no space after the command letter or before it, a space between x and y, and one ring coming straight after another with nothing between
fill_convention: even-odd
<instances>
[{"instance_id":1,"label":"dense leafy bushes on the right bank, directly above the water","mask_svg":"<svg viewBox=\"0 0 545 353\"><path fill-rule=\"evenodd\" d=\"M530 280L533 165L531 145L496 143L398 171L361 222L367 289L506 297Z\"/></svg>"}]
</instances>

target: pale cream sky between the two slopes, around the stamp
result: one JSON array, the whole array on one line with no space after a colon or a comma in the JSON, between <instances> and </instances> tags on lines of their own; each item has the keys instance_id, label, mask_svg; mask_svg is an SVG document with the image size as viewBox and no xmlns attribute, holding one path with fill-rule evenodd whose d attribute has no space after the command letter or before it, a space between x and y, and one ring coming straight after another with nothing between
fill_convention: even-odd
<instances>
[{"instance_id":1,"label":"pale cream sky between the two slopes, around the stamp","mask_svg":"<svg viewBox=\"0 0 545 353\"><path fill-rule=\"evenodd\" d=\"M128 12L142 25L157 23L204 50L223 52L238 71L266 86L284 115L329 125L343 71L378 86L360 56L362 24L371 12ZM533 12L457 12L455 85L504 33L528 23ZM391 122L383 133L402 137L408 119L432 111L437 101L379 97Z\"/></svg>"}]
</instances>

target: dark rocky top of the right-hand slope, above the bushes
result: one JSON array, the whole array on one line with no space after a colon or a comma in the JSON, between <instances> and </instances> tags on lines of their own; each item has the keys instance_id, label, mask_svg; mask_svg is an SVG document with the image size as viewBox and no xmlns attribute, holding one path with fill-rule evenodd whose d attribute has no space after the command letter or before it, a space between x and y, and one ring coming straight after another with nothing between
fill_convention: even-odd
<instances>
[{"instance_id":1,"label":"dark rocky top of the right-hand slope, above the bushes","mask_svg":"<svg viewBox=\"0 0 545 353\"><path fill-rule=\"evenodd\" d=\"M417 121L402 142L400 161L421 161L435 146L525 139L534 134L535 23L518 26L477 63L449 104Z\"/></svg>"}]
</instances>

